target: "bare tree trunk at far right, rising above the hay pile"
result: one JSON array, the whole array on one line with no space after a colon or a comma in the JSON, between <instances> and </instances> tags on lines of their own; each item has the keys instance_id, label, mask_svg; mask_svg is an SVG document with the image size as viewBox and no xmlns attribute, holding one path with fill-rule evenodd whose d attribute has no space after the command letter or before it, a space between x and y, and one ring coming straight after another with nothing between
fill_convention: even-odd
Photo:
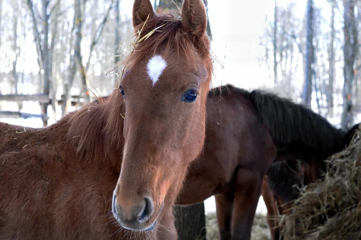
<instances>
[{"instance_id":1,"label":"bare tree trunk at far right, rising above the hay pile","mask_svg":"<svg viewBox=\"0 0 361 240\"><path fill-rule=\"evenodd\" d=\"M352 122L352 82L355 74L354 64L358 54L358 22L355 16L356 0L344 0L344 85L343 85L343 112L341 127L347 128Z\"/></svg>"}]
</instances>

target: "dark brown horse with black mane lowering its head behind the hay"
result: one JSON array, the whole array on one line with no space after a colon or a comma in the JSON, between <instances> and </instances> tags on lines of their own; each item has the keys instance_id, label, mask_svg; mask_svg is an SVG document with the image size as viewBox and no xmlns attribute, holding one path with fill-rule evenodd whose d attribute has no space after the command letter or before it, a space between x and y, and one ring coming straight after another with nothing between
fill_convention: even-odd
<instances>
[{"instance_id":1,"label":"dark brown horse with black mane lowering its head behind the hay","mask_svg":"<svg viewBox=\"0 0 361 240\"><path fill-rule=\"evenodd\" d=\"M271 163L305 159L319 174L343 149L344 132L302 105L232 86L209 94L206 140L177 204L215 195L221 239L250 239L262 179Z\"/></svg>"}]
</instances>

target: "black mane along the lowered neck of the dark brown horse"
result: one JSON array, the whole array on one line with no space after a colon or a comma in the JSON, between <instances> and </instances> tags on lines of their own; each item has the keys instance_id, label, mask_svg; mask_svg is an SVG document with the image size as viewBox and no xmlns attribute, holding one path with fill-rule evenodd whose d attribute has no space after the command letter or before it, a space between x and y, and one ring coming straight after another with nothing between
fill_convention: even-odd
<instances>
[{"instance_id":1,"label":"black mane along the lowered neck of the dark brown horse","mask_svg":"<svg viewBox=\"0 0 361 240\"><path fill-rule=\"evenodd\" d=\"M345 147L345 132L301 104L254 90L250 100L277 146L312 150L326 158Z\"/></svg>"}]
</instances>

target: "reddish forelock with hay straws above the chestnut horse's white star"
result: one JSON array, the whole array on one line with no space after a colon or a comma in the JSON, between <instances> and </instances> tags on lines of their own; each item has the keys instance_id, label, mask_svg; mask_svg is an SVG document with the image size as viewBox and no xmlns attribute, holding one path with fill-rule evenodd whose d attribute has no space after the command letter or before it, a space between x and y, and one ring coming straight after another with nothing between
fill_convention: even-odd
<instances>
[{"instance_id":1,"label":"reddish forelock with hay straws above the chestnut horse's white star","mask_svg":"<svg viewBox=\"0 0 361 240\"><path fill-rule=\"evenodd\" d=\"M160 28L157 29L157 27ZM175 19L169 14L153 16L145 22L144 26L143 23L137 26L135 31L140 31L140 39L142 39L154 29L157 30L149 38L135 43L133 51L125 59L125 70L144 58L160 55L166 59L171 52L176 52L179 58L185 60L193 69L199 67L199 59L203 60L210 80L213 65L210 56L210 42L206 34L197 37L191 32L184 31L182 20Z\"/></svg>"}]
</instances>

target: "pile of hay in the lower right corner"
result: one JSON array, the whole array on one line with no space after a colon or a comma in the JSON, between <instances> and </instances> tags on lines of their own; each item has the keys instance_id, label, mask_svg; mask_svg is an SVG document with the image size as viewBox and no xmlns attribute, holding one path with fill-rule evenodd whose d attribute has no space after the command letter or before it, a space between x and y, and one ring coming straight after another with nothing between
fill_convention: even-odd
<instances>
[{"instance_id":1,"label":"pile of hay in the lower right corner","mask_svg":"<svg viewBox=\"0 0 361 240\"><path fill-rule=\"evenodd\" d=\"M281 218L285 240L361 239L361 131L326 163L325 178L301 189Z\"/></svg>"}]
</instances>

